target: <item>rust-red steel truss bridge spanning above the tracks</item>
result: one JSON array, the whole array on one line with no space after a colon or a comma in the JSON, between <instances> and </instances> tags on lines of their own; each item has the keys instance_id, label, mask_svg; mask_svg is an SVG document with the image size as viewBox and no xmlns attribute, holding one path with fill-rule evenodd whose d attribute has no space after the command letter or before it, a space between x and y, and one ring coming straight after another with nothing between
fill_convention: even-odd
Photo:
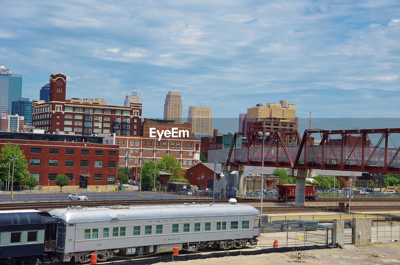
<instances>
[{"instance_id":1,"label":"rust-red steel truss bridge spanning above the tracks","mask_svg":"<svg viewBox=\"0 0 400 265\"><path fill-rule=\"evenodd\" d=\"M271 132L264 140L254 132L236 132L230 150L208 151L208 159L226 165L286 167L292 169L322 169L361 171L370 173L400 173L400 147L391 136L399 135L400 128L355 130L305 130L303 137L293 131ZM314 136L319 145L313 145ZM370 137L377 135L373 144ZM236 140L247 137L248 147L238 148ZM335 137L340 137L333 141ZM377 137L372 137L377 139ZM286 140L290 139L290 145ZM393 147L388 147L388 146ZM263 159L262 159L263 157Z\"/></svg>"}]
</instances>

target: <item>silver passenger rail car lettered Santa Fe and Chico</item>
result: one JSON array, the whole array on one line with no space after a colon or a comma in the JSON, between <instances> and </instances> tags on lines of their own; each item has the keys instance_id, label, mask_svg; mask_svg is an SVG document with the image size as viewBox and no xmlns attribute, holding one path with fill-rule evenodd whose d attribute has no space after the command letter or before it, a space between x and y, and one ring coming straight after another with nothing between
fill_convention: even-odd
<instances>
[{"instance_id":1,"label":"silver passenger rail car lettered Santa Fe and Chico","mask_svg":"<svg viewBox=\"0 0 400 265\"><path fill-rule=\"evenodd\" d=\"M67 207L50 211L60 225L61 262L86 263L115 255L147 255L174 246L196 251L256 245L259 212L242 204ZM172 251L172 250L171 250Z\"/></svg>"}]
</instances>

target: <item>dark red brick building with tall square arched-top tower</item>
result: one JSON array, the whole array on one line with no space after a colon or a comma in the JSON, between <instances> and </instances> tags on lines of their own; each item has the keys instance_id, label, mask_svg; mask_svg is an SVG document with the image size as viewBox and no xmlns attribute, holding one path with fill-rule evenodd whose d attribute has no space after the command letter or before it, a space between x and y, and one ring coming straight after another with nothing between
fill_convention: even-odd
<instances>
[{"instance_id":1,"label":"dark red brick building with tall square arched-top tower","mask_svg":"<svg viewBox=\"0 0 400 265\"><path fill-rule=\"evenodd\" d=\"M98 100L66 100L66 82L64 74L51 74L49 102L34 105L33 126L75 135L140 135L141 103L125 107L100 104Z\"/></svg>"}]
</instances>

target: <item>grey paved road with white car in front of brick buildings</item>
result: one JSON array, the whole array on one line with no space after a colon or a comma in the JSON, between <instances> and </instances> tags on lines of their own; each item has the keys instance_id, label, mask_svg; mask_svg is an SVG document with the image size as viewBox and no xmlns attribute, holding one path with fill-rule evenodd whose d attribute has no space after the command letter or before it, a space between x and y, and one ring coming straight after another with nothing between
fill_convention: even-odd
<instances>
[{"instance_id":1,"label":"grey paved road with white car in front of brick buildings","mask_svg":"<svg viewBox=\"0 0 400 265\"><path fill-rule=\"evenodd\" d=\"M165 199L188 199L188 196L143 192L139 197L139 191L110 191L110 192L80 192L88 197L90 201L97 200L165 200ZM14 193L14 200L10 199L10 193L0 193L0 203L7 202L29 202L29 201L68 201L71 193Z\"/></svg>"}]
</instances>

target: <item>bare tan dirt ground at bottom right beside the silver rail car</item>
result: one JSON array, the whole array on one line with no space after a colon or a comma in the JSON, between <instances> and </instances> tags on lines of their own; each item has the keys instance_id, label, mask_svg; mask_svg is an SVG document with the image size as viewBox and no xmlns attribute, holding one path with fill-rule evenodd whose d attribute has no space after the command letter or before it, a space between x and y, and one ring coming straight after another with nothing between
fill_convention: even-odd
<instances>
[{"instance_id":1,"label":"bare tan dirt ground at bottom right beside the silver rail car","mask_svg":"<svg viewBox=\"0 0 400 265\"><path fill-rule=\"evenodd\" d=\"M400 263L400 242L375 243L368 247L346 245L345 249L322 249L301 251L301 261L306 264L325 265L367 265ZM192 261L177 261L176 265L221 265L221 264L251 264L279 265L295 262L294 253L270 253L261 255L221 257L197 259ZM168 263L156 263L167 265Z\"/></svg>"}]
</instances>

